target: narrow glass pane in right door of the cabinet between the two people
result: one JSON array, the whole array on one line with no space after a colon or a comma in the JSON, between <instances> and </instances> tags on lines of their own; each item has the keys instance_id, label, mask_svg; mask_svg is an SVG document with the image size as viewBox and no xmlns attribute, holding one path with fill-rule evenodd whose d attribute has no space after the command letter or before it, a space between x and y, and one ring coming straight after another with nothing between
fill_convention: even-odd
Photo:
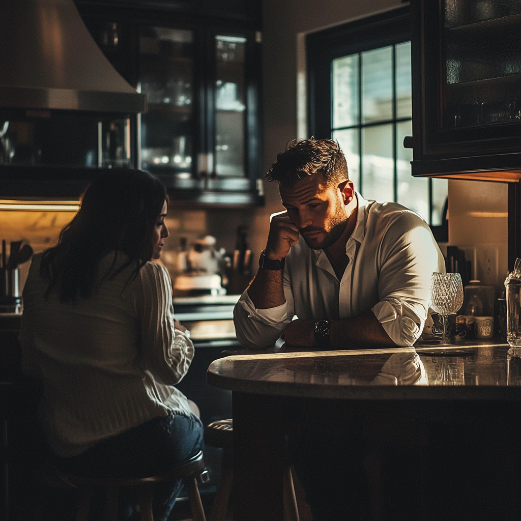
<instances>
[{"instance_id":1,"label":"narrow glass pane in right door of the cabinet between the two people","mask_svg":"<svg viewBox=\"0 0 521 521\"><path fill-rule=\"evenodd\" d=\"M245 79L244 36L216 36L215 171L243 177Z\"/></svg>"}]
</instances>

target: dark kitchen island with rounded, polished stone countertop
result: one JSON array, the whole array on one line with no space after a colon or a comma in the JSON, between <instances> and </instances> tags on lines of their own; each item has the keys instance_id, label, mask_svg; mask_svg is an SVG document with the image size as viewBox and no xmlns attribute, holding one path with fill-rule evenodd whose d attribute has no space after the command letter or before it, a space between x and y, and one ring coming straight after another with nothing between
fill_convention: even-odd
<instances>
[{"instance_id":1,"label":"dark kitchen island with rounded, polished stone countertop","mask_svg":"<svg viewBox=\"0 0 521 521\"><path fill-rule=\"evenodd\" d=\"M356 417L375 519L518 519L521 358L505 344L265 353L213 362L233 394L234 519L282 519L284 436Z\"/></svg>"}]
</instances>

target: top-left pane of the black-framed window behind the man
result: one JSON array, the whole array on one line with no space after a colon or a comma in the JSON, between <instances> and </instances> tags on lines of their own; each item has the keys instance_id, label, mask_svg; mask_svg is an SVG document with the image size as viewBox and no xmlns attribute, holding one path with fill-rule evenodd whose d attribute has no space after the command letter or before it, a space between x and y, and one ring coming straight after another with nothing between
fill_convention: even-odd
<instances>
[{"instance_id":1,"label":"top-left pane of the black-framed window behind the man","mask_svg":"<svg viewBox=\"0 0 521 521\"><path fill-rule=\"evenodd\" d=\"M358 54L333 60L333 128L358 123Z\"/></svg>"}]
</instances>

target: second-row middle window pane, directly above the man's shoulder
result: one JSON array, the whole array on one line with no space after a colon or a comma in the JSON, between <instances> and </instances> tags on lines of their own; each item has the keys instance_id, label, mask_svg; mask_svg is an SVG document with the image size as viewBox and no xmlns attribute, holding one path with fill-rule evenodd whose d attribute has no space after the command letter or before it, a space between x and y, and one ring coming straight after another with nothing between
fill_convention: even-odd
<instances>
[{"instance_id":1,"label":"second-row middle window pane, directly above the man's shoulder","mask_svg":"<svg viewBox=\"0 0 521 521\"><path fill-rule=\"evenodd\" d=\"M362 195L393 201L392 124L362 129Z\"/></svg>"}]
</instances>

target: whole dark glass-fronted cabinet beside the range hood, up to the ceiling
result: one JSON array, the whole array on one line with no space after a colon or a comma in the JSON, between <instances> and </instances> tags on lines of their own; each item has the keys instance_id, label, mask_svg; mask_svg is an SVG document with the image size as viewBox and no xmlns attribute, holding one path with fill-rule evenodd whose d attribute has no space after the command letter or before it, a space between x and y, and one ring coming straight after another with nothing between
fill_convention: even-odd
<instances>
[{"instance_id":1,"label":"whole dark glass-fronted cabinet beside the range hood, up to the ceiling","mask_svg":"<svg viewBox=\"0 0 521 521\"><path fill-rule=\"evenodd\" d=\"M135 117L135 166L177 204L263 204L260 18L254 9L233 17L232 2L227 18L185 4L78 7L107 58L147 95Z\"/></svg>"}]
</instances>

